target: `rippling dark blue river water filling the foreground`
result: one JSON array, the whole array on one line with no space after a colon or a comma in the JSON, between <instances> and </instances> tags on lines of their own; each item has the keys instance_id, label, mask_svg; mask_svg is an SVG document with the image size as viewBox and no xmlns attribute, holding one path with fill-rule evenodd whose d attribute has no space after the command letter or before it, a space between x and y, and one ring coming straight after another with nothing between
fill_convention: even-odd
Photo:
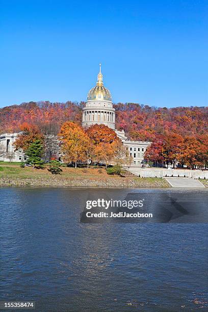
<instances>
[{"instance_id":1,"label":"rippling dark blue river water filling the foreground","mask_svg":"<svg viewBox=\"0 0 208 312\"><path fill-rule=\"evenodd\" d=\"M38 311L208 309L206 224L80 222L87 199L127 189L0 192L1 299L34 300ZM203 215L206 190L179 194Z\"/></svg>"}]
</instances>

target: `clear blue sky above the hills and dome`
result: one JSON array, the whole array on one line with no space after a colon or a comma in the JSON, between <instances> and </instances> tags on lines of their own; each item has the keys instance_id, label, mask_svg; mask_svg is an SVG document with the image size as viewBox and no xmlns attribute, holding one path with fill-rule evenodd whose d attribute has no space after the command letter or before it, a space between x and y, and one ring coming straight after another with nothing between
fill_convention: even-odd
<instances>
[{"instance_id":1,"label":"clear blue sky above the hills and dome","mask_svg":"<svg viewBox=\"0 0 208 312\"><path fill-rule=\"evenodd\" d=\"M0 107L80 101L207 106L208 2L0 0Z\"/></svg>"}]
</instances>

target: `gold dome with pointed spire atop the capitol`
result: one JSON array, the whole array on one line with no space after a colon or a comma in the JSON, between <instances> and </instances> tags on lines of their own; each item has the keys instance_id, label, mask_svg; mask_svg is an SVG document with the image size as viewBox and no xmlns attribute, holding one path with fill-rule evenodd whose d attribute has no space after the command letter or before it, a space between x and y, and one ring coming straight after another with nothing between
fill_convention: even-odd
<instances>
[{"instance_id":1,"label":"gold dome with pointed spire atop the capitol","mask_svg":"<svg viewBox=\"0 0 208 312\"><path fill-rule=\"evenodd\" d=\"M101 64L99 64L99 65L100 65L100 71L97 75L96 86L89 91L87 99L88 100L112 101L111 92L106 87L103 86Z\"/></svg>"}]
</instances>

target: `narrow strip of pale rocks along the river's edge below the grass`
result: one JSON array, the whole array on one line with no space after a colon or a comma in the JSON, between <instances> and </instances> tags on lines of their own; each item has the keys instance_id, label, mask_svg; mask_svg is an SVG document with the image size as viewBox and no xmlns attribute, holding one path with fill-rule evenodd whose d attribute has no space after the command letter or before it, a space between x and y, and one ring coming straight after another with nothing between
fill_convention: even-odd
<instances>
[{"instance_id":1,"label":"narrow strip of pale rocks along the river's edge below the grass","mask_svg":"<svg viewBox=\"0 0 208 312\"><path fill-rule=\"evenodd\" d=\"M110 177L110 178L72 178L62 176L47 177L1 177L0 186L11 187L85 187L85 188L168 188L170 185L162 178Z\"/></svg>"}]
</instances>

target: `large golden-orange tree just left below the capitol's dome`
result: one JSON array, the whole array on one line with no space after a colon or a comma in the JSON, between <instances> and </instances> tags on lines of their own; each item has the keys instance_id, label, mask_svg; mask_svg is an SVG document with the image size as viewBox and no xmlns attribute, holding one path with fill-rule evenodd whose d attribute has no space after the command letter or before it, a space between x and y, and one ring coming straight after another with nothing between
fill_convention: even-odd
<instances>
[{"instance_id":1,"label":"large golden-orange tree just left below the capitol's dome","mask_svg":"<svg viewBox=\"0 0 208 312\"><path fill-rule=\"evenodd\" d=\"M78 161L87 160L86 150L90 139L80 125L70 121L65 122L61 127L59 138L65 162L73 162L76 168Z\"/></svg>"}]
</instances>

